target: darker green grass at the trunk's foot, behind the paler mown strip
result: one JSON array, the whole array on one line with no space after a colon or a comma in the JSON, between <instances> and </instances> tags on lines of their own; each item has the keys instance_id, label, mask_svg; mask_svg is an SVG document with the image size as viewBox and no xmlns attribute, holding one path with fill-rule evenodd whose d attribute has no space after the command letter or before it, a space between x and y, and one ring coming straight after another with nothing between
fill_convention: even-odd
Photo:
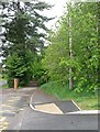
<instances>
[{"instance_id":1,"label":"darker green grass at the trunk's foot, behind the paler mown strip","mask_svg":"<svg viewBox=\"0 0 100 132\"><path fill-rule=\"evenodd\" d=\"M95 96L95 94L87 94L84 91L82 94L77 94L75 90L70 91L68 89L68 84L65 84L60 80L57 81L49 81L47 84L44 84L41 86L42 89L44 89L46 92L54 95L56 98L59 99L73 99L73 98L78 98L78 97L89 97L89 96Z\"/></svg>"}]
</instances>

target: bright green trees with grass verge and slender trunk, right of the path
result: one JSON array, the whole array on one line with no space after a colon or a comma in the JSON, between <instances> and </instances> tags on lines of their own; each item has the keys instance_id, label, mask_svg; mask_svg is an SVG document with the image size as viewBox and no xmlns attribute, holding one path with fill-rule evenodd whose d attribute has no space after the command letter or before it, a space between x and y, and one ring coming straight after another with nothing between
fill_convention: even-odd
<instances>
[{"instance_id":1,"label":"bright green trees with grass verge and slender trunk, right of the path","mask_svg":"<svg viewBox=\"0 0 100 132\"><path fill-rule=\"evenodd\" d=\"M66 10L49 35L42 59L49 80L41 88L58 99L75 100L81 109L100 109L100 3L67 4Z\"/></svg>"}]
</instances>

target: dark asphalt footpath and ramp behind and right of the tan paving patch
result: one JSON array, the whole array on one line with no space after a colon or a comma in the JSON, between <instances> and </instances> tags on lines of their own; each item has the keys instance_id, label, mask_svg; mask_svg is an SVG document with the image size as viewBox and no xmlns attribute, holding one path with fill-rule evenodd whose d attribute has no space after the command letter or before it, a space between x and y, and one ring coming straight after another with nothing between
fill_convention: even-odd
<instances>
[{"instance_id":1,"label":"dark asphalt footpath and ramp behind and right of the tan paving patch","mask_svg":"<svg viewBox=\"0 0 100 132\"><path fill-rule=\"evenodd\" d=\"M36 106L43 106L43 105L56 105L63 113L67 112L74 112L74 111L79 111L80 108L71 100L67 101L62 101L57 100L56 98L45 94L44 91L36 89L31 97L30 103L33 106L33 109L35 109ZM52 107L52 106L51 106Z\"/></svg>"}]
</instances>

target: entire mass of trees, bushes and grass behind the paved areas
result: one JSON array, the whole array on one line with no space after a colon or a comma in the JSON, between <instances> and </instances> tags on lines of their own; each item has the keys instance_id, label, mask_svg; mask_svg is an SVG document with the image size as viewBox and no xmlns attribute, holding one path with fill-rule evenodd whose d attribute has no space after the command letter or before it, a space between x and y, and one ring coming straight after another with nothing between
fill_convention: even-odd
<instances>
[{"instance_id":1,"label":"entire mass of trees, bushes and grass behind the paved areas","mask_svg":"<svg viewBox=\"0 0 100 132\"><path fill-rule=\"evenodd\" d=\"M14 78L19 78L19 87L37 80L44 91L58 99L75 100L81 109L100 109L100 2L66 3L55 30L46 28L53 18L40 14L51 8L40 1L23 7L1 2L8 86L13 86Z\"/></svg>"}]
</instances>

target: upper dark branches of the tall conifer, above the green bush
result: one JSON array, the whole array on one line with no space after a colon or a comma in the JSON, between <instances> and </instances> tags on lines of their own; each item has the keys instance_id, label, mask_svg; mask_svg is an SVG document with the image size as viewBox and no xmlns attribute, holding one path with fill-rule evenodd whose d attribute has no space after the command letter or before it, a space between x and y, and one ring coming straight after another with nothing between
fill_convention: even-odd
<instances>
[{"instance_id":1,"label":"upper dark branches of the tall conifer, above the green bush","mask_svg":"<svg viewBox=\"0 0 100 132\"><path fill-rule=\"evenodd\" d=\"M2 38L2 50L9 55L14 50L36 51L37 47L42 50L44 46L44 38L46 37L45 22L49 19L43 16L38 11L49 9L51 6L45 2L1 2L4 38ZM7 44L8 42L8 44ZM21 47L20 47L21 46ZM7 56L7 54L4 54Z\"/></svg>"}]
</instances>

